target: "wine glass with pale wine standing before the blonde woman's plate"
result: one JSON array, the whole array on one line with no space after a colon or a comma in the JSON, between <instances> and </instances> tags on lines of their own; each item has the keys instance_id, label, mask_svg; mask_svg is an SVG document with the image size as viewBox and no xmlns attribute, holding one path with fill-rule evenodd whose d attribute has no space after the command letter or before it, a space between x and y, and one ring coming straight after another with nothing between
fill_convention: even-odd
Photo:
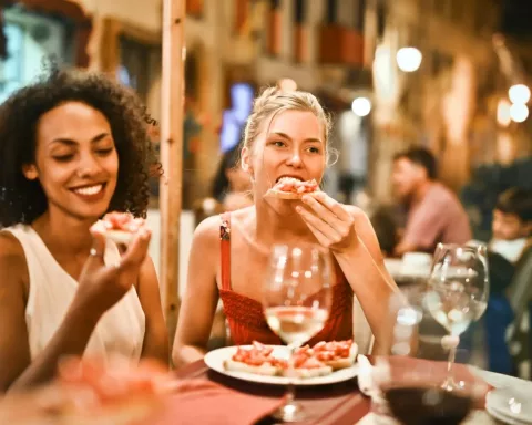
<instances>
[{"instance_id":1,"label":"wine glass with pale wine standing before the blonde woman's plate","mask_svg":"<svg viewBox=\"0 0 532 425\"><path fill-rule=\"evenodd\" d=\"M290 376L294 351L316 335L329 317L330 267L327 252L315 245L275 245L263 287L263 307L269 328L288 345ZM275 415L284 422L304 418L288 384L286 403Z\"/></svg>"}]
</instances>

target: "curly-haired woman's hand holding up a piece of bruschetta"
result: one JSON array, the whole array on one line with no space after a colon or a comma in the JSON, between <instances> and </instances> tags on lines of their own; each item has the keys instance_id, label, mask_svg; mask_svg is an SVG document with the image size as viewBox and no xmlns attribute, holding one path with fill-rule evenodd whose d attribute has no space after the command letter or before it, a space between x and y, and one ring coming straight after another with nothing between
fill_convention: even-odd
<instances>
[{"instance_id":1,"label":"curly-haired woman's hand holding up a piece of bruschetta","mask_svg":"<svg viewBox=\"0 0 532 425\"><path fill-rule=\"evenodd\" d=\"M139 272L147 256L151 231L141 228L114 265L105 265L105 236L92 228L93 247L79 279L73 304L96 315L103 314L139 280Z\"/></svg>"}]
</instances>

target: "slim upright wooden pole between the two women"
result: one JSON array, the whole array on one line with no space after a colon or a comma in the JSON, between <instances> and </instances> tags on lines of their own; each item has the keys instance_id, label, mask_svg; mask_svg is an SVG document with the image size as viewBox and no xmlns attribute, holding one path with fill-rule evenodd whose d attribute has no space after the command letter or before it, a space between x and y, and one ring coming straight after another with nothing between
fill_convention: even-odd
<instances>
[{"instance_id":1,"label":"slim upright wooden pole between the two women","mask_svg":"<svg viewBox=\"0 0 532 425\"><path fill-rule=\"evenodd\" d=\"M178 251L183 184L185 0L163 0L161 83L161 288L170 343L180 312Z\"/></svg>"}]
</instances>

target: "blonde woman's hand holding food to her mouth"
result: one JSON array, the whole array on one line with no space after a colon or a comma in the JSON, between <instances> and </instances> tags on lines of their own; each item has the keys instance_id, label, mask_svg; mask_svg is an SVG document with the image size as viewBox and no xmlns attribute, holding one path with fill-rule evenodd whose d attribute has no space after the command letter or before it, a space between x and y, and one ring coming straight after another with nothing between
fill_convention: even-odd
<instances>
[{"instance_id":1,"label":"blonde woman's hand holding food to her mouth","mask_svg":"<svg viewBox=\"0 0 532 425\"><path fill-rule=\"evenodd\" d=\"M337 252L356 246L355 218L346 206L324 191L305 195L301 201L305 207L298 205L296 210L320 245Z\"/></svg>"}]
</instances>

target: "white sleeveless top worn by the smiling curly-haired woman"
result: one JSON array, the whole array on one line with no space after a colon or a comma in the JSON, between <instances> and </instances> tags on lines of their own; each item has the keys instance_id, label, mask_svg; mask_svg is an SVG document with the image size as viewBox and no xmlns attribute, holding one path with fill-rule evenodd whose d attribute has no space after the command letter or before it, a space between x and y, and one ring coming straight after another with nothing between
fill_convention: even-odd
<instances>
[{"instance_id":1,"label":"white sleeveless top worn by the smiling curly-haired woman","mask_svg":"<svg viewBox=\"0 0 532 425\"><path fill-rule=\"evenodd\" d=\"M75 281L55 261L47 246L31 226L18 225L7 229L21 243L28 272L30 291L25 307L25 324L31 359L47 346L57 332L78 289ZM120 260L116 245L108 242L104 261ZM119 354L137 361L144 341L145 317L134 287L110 310L94 329L83 355L109 360Z\"/></svg>"}]
</instances>

